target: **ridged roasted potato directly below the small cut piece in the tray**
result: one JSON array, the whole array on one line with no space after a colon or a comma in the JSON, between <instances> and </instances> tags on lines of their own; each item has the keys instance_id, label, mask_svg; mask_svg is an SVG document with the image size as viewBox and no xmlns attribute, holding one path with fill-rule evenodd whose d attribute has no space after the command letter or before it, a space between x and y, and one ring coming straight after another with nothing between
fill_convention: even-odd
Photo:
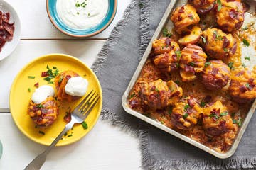
<instances>
[{"instance_id":1,"label":"ridged roasted potato directly below the small cut piece in the tray","mask_svg":"<svg viewBox=\"0 0 256 170\"><path fill-rule=\"evenodd\" d=\"M198 45L188 45L181 51L180 74L182 81L196 79L196 73L202 72L206 63L206 53Z\"/></svg>"}]
</instances>

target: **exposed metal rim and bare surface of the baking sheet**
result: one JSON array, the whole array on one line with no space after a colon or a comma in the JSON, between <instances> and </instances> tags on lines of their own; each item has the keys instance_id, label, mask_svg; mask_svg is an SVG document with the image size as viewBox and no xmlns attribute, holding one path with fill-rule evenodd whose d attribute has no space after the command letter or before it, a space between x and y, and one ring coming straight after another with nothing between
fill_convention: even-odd
<instances>
[{"instance_id":1,"label":"exposed metal rim and bare surface of the baking sheet","mask_svg":"<svg viewBox=\"0 0 256 170\"><path fill-rule=\"evenodd\" d=\"M204 151L208 152L209 154L213 154L215 157L218 157L220 159L225 159L225 158L231 157L235 153L235 150L238 147L238 144L242 138L242 135L245 132L245 129L247 128L247 125L248 125L253 113L255 112L256 101L254 101L252 103L252 107L250 108L250 111L247 113L247 116L246 116L244 122L242 123L240 131L238 132L238 135L233 142L233 146L230 147L228 152L225 152L225 153L220 153L220 152L215 151L214 149L210 149L210 147L206 147L206 145L196 142L195 140L192 140L191 138L186 137L185 135L182 135L181 133L176 132L175 130L172 130L171 128L168 128L165 125L162 125L161 123L157 122L156 120L153 120L151 118L146 117L145 115L142 115L142 113L132 110L132 108L129 108L128 103L127 103L129 91L132 90L134 84L136 83L136 81L140 75L142 68L144 67L144 64L145 64L147 58L149 57L149 54L151 52L152 42L156 38L159 38L159 36L161 35L161 30L163 28L169 28L169 30L170 30L173 27L173 24L169 20L169 16L171 15L172 10L174 8L176 8L176 6L181 6L186 3L187 3L187 1L184 1L184 0L181 0L181 1L171 0L169 6L166 8L166 12L164 13L163 18L161 18L159 26L156 28L156 31L155 31L153 37L151 38L151 41L149 42L149 45L146 48L146 51L144 52L144 56L142 57L142 60L141 60L141 62L139 62L139 65L138 65L136 71L134 72L134 75L133 75L131 81L129 82L129 85L128 85L126 91L124 92L124 95L122 96L122 106L123 106L124 110L127 111L127 113L134 115L137 118L142 119L142 120L146 121L147 123L150 123L151 125L154 125L156 128L159 128L161 130L169 132L171 135L174 135L174 136L180 138L181 140L184 140L184 141L190 143L191 145L194 145L200 149L203 149ZM248 15L249 13L246 13L246 14ZM246 19L246 15L245 15L245 23L247 23L248 21L250 21L250 18ZM254 18L254 21L255 21L255 18ZM249 51L252 55L255 55L255 51L250 51L250 50L246 50L246 51L247 52ZM243 50L242 50L242 54L244 54ZM249 67L252 68L253 67L252 65L254 65L255 63L256 62L250 61Z\"/></svg>"}]
</instances>

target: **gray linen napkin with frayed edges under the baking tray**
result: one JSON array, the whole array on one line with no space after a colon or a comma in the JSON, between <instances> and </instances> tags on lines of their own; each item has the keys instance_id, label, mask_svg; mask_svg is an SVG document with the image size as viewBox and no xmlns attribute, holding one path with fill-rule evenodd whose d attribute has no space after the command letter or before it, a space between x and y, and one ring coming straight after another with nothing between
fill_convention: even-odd
<instances>
[{"instance_id":1,"label":"gray linen napkin with frayed edges under the baking tray","mask_svg":"<svg viewBox=\"0 0 256 170\"><path fill-rule=\"evenodd\" d=\"M169 0L133 0L92 69L102 84L102 119L139 137L144 169L256 169L256 116L237 151L218 159L126 113L121 98Z\"/></svg>"}]
</instances>

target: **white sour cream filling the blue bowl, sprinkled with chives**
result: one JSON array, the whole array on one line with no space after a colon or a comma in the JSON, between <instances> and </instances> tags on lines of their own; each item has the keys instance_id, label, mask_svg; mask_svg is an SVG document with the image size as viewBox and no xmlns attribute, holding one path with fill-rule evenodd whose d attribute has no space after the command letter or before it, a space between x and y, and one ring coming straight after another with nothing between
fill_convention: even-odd
<instances>
[{"instance_id":1,"label":"white sour cream filling the blue bowl, sprinkled with chives","mask_svg":"<svg viewBox=\"0 0 256 170\"><path fill-rule=\"evenodd\" d=\"M60 19L70 28L86 29L97 26L107 14L108 0L57 0Z\"/></svg>"}]
</instances>

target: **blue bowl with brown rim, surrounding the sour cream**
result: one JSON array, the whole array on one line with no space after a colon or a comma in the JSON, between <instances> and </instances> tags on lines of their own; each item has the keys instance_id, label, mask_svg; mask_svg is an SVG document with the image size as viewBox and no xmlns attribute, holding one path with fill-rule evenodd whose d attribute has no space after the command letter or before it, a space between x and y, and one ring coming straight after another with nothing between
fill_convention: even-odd
<instances>
[{"instance_id":1,"label":"blue bowl with brown rim, surrounding the sour cream","mask_svg":"<svg viewBox=\"0 0 256 170\"><path fill-rule=\"evenodd\" d=\"M48 17L50 18L50 22L53 23L53 26L60 30L60 32L76 38L85 38L101 33L103 30L107 28L107 26L110 26L110 23L113 21L114 16L117 12L117 0L108 0L109 8L102 22L92 28L78 30L70 28L69 26L65 25L63 21L61 21L57 13L56 2L57 0L46 0L46 10L48 13Z\"/></svg>"}]
</instances>

